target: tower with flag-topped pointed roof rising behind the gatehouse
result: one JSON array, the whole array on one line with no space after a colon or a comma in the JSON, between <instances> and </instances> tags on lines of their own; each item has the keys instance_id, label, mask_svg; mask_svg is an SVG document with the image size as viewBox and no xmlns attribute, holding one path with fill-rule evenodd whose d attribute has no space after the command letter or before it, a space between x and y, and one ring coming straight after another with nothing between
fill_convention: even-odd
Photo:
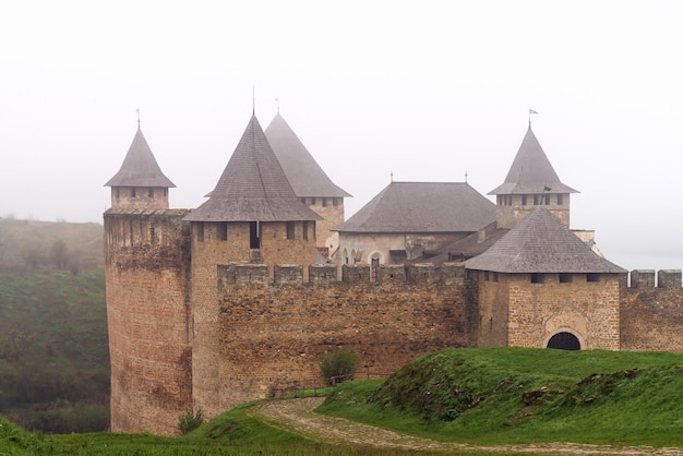
<instances>
[{"instance_id":1,"label":"tower with flag-topped pointed roof rising behind the gatehouse","mask_svg":"<svg viewBox=\"0 0 683 456\"><path fill-rule=\"evenodd\" d=\"M560 181L530 123L505 182L489 192L496 195L499 228L514 227L537 206L546 207L568 228L571 193L577 191Z\"/></svg>"}]
</instances>

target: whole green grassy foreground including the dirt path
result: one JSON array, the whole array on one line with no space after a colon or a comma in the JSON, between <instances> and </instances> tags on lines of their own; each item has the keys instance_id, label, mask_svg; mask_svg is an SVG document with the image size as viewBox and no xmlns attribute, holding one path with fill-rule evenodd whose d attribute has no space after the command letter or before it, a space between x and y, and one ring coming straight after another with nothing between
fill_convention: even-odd
<instances>
[{"instance_id":1,"label":"whole green grassy foreground including the dirt path","mask_svg":"<svg viewBox=\"0 0 683 456\"><path fill-rule=\"evenodd\" d=\"M683 454L681 353L453 349L326 393L316 412L323 398L262 400L181 437L49 436L0 418L0 454Z\"/></svg>"}]
</instances>

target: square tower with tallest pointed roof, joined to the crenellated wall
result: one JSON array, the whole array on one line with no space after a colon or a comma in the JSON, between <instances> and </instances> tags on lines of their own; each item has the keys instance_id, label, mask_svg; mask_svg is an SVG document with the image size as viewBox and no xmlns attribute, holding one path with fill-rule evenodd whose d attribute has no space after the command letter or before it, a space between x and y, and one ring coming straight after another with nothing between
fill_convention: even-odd
<instances>
[{"instance_id":1,"label":"square tower with tallest pointed roof, joined to the crenellated wall","mask_svg":"<svg viewBox=\"0 0 683 456\"><path fill-rule=\"evenodd\" d=\"M273 278L276 264L315 264L320 218L296 196L252 116L208 201L184 217L192 231L192 394L207 416L237 405L230 388L243 368L218 369L217 266L266 264Z\"/></svg>"}]
</instances>

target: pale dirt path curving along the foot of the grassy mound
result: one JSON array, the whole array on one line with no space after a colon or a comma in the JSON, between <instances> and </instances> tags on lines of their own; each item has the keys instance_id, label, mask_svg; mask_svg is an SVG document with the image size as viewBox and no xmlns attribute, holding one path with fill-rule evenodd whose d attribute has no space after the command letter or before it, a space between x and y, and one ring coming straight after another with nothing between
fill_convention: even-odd
<instances>
[{"instance_id":1,"label":"pale dirt path curving along the foot of the grassy mound","mask_svg":"<svg viewBox=\"0 0 683 456\"><path fill-rule=\"evenodd\" d=\"M357 423L343 418L326 417L313 412L324 398L269 400L254 406L250 415L271 425L293 431L316 441L328 443L358 444L363 446L391 447L411 451L487 451L500 453L558 453L592 455L683 455L680 448L610 447L565 443L524 446L472 446L452 442L438 442L428 439L398 434L384 429Z\"/></svg>"}]
</instances>

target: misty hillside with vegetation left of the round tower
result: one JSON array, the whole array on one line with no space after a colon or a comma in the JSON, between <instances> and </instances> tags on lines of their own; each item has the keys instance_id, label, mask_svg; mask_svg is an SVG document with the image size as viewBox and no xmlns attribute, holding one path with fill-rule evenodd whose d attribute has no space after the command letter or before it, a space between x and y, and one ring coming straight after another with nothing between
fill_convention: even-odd
<instances>
[{"instance_id":1,"label":"misty hillside with vegetation left of the round tower","mask_svg":"<svg viewBox=\"0 0 683 456\"><path fill-rule=\"evenodd\" d=\"M109 421L103 226L0 218L0 413L29 430Z\"/></svg>"}]
</instances>

